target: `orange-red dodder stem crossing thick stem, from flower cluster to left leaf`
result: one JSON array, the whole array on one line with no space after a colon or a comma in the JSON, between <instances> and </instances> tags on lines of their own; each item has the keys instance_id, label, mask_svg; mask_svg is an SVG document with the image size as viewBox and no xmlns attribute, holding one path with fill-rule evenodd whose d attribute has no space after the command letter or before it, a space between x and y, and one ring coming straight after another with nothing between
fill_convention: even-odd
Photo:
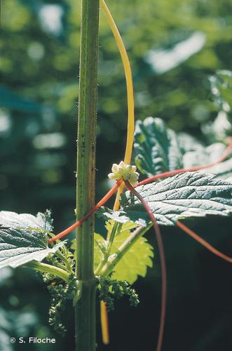
<instances>
[{"instance_id":1,"label":"orange-red dodder stem crossing thick stem, from flower cluster to left leaf","mask_svg":"<svg viewBox=\"0 0 232 351\"><path fill-rule=\"evenodd\" d=\"M97 204L85 216L83 216L83 218L81 218L76 223L63 230L59 234L55 235L55 237L50 238L48 240L48 244L58 239L61 239L62 237L79 227L79 225L81 225L85 220L87 220L93 213L95 213L95 211L97 211L101 206L103 206L111 198L112 195L114 195L114 193L118 190L118 187L120 187L122 182L123 180L118 180L114 187L111 187L111 190L109 190L109 192L107 192L107 194L105 194L104 197L102 197L102 199L99 202L97 202Z\"/></svg>"}]
</instances>

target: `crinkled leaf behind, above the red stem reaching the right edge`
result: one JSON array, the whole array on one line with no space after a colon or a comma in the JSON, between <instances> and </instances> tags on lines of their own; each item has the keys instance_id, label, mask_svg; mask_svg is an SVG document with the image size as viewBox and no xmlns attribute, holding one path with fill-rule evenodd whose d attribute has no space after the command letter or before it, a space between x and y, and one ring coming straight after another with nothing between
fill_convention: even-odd
<instances>
[{"instance_id":1,"label":"crinkled leaf behind, above the red stem reaching the right edge","mask_svg":"<svg viewBox=\"0 0 232 351\"><path fill-rule=\"evenodd\" d=\"M153 176L178 168L191 168L217 161L226 149L224 143L213 143L205 147L186 133L168 129L161 119L146 118L137 121L135 130L135 163L139 171ZM221 162L203 173L217 174L217 178L231 177L230 162Z\"/></svg>"}]
</instances>

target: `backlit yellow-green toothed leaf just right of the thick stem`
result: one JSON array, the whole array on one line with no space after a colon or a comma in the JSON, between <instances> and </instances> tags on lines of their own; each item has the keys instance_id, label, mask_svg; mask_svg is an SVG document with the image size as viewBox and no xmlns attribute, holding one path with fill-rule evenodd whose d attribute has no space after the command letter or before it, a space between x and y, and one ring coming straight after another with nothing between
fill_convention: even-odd
<instances>
[{"instance_id":1,"label":"backlit yellow-green toothed leaf just right of the thick stem","mask_svg":"<svg viewBox=\"0 0 232 351\"><path fill-rule=\"evenodd\" d=\"M109 221L108 226L112 225L114 221ZM111 255L118 251L118 248L128 238L130 232L135 229L137 225L132 222L125 223L120 232L116 234L114 243L111 247ZM107 241L100 234L95 234L95 268L103 258L101 247L106 247ZM153 247L146 241L144 237L140 237L130 250L125 253L123 258L114 267L112 279L125 280L129 284L133 284L138 276L146 276L147 267L152 267Z\"/></svg>"}]
</instances>

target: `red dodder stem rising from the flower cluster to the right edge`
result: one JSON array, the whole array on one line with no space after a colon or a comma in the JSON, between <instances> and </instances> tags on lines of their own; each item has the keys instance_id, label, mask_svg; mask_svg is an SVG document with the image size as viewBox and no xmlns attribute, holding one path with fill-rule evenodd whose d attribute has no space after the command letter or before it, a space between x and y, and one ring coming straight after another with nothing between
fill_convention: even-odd
<instances>
[{"instance_id":1,"label":"red dodder stem rising from the flower cluster to the right edge","mask_svg":"<svg viewBox=\"0 0 232 351\"><path fill-rule=\"evenodd\" d=\"M228 147L226 147L226 150L223 152L223 154L221 154L221 157L219 157L219 159L217 159L214 162L210 162L210 164L203 164L201 166L195 166L195 167L191 167L191 168L181 168L181 169L176 169L175 171L168 171L168 172L156 174L156 176L152 176L152 177L149 177L149 178L142 180L141 182L139 182L138 185L145 185L145 184L151 183L153 180L157 180L160 178L175 176L175 174L179 174L182 172L199 171L200 169L210 168L210 167L214 166L215 164L219 164L220 162L224 161L224 159L226 159L226 157L228 157L228 155L232 151L232 137L228 138L228 142L229 142Z\"/></svg>"}]
</instances>

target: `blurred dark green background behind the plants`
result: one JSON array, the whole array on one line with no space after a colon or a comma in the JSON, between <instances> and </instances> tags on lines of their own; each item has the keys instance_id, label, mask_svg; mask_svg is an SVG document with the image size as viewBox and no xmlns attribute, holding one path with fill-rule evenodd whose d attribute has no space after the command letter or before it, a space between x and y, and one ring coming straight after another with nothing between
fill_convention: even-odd
<instances>
[{"instance_id":1,"label":"blurred dark green background behind the plants","mask_svg":"<svg viewBox=\"0 0 232 351\"><path fill-rule=\"evenodd\" d=\"M160 117L205 143L231 129L228 105L215 103L209 76L232 69L231 0L108 0L132 65L135 116ZM55 232L74 221L80 1L1 1L0 208L53 211ZM100 15L97 189L123 158L125 78L111 31ZM231 95L228 95L228 100ZM225 116L226 114L226 116ZM221 117L220 117L221 116ZM219 119L220 117L220 119ZM217 135L212 136L217 118ZM229 125L228 125L229 124ZM231 219L198 220L198 233L228 253ZM97 220L97 230L102 223ZM162 230L168 261L168 314L163 351L231 350L229 265L179 230ZM152 236L147 235L149 240ZM0 351L74 350L71 302L67 336L48 325L50 296L33 272L0 272ZM154 350L160 313L160 269L135 284L141 303L111 313L111 344L98 350ZM98 311L99 312L99 311ZM54 344L10 344L10 336L55 337ZM84 351L84 350L83 350Z\"/></svg>"}]
</instances>

